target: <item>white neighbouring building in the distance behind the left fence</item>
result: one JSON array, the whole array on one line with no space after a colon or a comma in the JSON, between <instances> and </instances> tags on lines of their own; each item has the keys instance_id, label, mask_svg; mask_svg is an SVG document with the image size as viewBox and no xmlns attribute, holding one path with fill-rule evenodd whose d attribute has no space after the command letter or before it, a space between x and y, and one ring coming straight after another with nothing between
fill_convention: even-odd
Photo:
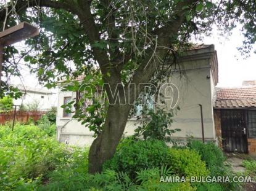
<instances>
[{"instance_id":1,"label":"white neighbouring building in the distance behind the left fence","mask_svg":"<svg viewBox=\"0 0 256 191\"><path fill-rule=\"evenodd\" d=\"M15 105L23 104L26 106L27 104L37 104L40 110L51 109L54 106L54 93L45 88L33 88L23 85L16 85L19 88L20 92L22 92L22 97L19 99L14 99Z\"/></svg>"}]
</instances>

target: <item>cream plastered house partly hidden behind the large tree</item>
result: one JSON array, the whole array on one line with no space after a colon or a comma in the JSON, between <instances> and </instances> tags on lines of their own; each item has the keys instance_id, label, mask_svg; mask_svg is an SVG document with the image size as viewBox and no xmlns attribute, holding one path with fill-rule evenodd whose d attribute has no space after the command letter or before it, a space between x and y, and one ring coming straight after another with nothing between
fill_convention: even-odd
<instances>
[{"instance_id":1,"label":"cream plastered house partly hidden behind the large tree","mask_svg":"<svg viewBox=\"0 0 256 191\"><path fill-rule=\"evenodd\" d=\"M184 53L178 60L180 69L172 72L171 83L179 90L174 94L169 105L178 102L180 111L174 117L171 128L180 128L173 138L184 141L188 136L202 139L202 125L199 104L202 105L204 119L204 137L206 141L217 141L213 119L213 94L218 83L218 61L214 45L199 45ZM93 142L93 132L81 125L72 114L67 114L61 107L64 103L74 100L78 93L59 92L57 106L57 139L67 144L85 146ZM177 99L177 100L174 100ZM139 114L139 112L138 112ZM137 115L138 115L137 114ZM138 118L128 120L125 135L134 133Z\"/></svg>"}]
</instances>

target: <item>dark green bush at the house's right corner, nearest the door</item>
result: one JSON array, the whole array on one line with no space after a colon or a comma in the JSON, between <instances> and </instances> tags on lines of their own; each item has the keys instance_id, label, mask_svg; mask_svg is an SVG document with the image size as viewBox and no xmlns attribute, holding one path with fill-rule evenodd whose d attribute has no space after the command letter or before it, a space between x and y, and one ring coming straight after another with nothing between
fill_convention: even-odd
<instances>
[{"instance_id":1,"label":"dark green bush at the house's right corner, nearest the door","mask_svg":"<svg viewBox=\"0 0 256 191\"><path fill-rule=\"evenodd\" d=\"M191 141L188 147L199 152L202 161L206 163L212 176L221 176L225 174L225 156L221 149L212 142L204 144L200 141Z\"/></svg>"}]
</instances>

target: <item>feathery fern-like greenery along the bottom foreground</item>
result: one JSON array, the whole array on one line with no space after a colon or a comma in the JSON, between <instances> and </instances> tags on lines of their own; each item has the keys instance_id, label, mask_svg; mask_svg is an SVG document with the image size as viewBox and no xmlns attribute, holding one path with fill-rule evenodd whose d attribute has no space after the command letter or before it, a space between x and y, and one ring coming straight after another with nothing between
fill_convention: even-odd
<instances>
[{"instance_id":1,"label":"feathery fern-like greenery along the bottom foreground","mask_svg":"<svg viewBox=\"0 0 256 191\"><path fill-rule=\"evenodd\" d=\"M170 176L168 168L151 168L136 173L136 178L131 179L128 174L113 170L105 170L94 175L76 173L72 169L57 171L51 176L50 183L39 187L38 190L173 190L194 191L189 182L163 184L159 177ZM29 187L32 187L30 184ZM28 186L27 186L28 187Z\"/></svg>"}]
</instances>

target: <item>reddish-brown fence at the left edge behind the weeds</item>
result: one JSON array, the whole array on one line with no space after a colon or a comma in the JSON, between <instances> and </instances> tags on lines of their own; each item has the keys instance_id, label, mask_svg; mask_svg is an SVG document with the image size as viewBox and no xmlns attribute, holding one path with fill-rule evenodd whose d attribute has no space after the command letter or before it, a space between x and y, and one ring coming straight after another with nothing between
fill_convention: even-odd
<instances>
[{"instance_id":1,"label":"reddish-brown fence at the left edge behind the weeds","mask_svg":"<svg viewBox=\"0 0 256 191\"><path fill-rule=\"evenodd\" d=\"M33 119L35 122L47 111L16 111L15 122L27 123L29 119ZM14 120L14 111L2 111L0 112L0 125L4 125L6 122L12 122Z\"/></svg>"}]
</instances>

